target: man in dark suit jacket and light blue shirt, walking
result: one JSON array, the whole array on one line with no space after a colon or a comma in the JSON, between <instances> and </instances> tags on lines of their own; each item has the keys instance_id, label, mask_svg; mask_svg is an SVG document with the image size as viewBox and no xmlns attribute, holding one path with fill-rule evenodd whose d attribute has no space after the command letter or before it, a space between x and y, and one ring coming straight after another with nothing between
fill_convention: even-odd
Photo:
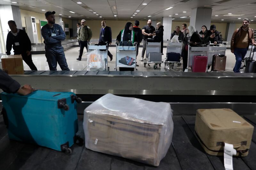
<instances>
[{"instance_id":1,"label":"man in dark suit jacket and light blue shirt, walking","mask_svg":"<svg viewBox=\"0 0 256 170\"><path fill-rule=\"evenodd\" d=\"M106 26L106 21L101 21L101 28L100 28L100 41L107 42L108 41L108 47L112 43L112 31L109 26ZM108 56L110 58L110 61L113 59L113 55L108 51Z\"/></svg>"}]
</instances>

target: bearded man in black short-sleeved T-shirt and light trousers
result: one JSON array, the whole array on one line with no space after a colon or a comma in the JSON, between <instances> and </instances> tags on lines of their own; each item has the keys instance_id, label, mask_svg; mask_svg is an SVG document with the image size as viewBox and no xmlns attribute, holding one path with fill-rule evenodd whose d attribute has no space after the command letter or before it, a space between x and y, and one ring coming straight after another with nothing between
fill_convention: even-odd
<instances>
[{"instance_id":1,"label":"bearded man in black short-sleeved T-shirt and light trousers","mask_svg":"<svg viewBox=\"0 0 256 170\"><path fill-rule=\"evenodd\" d=\"M155 27L151 26L152 21L151 19L148 19L148 25L147 26L143 26L142 28L142 34L143 36L143 48L142 48L142 54L141 54L141 60L140 61L144 61L144 54L146 51L146 40L148 38L153 38L153 35L156 35L155 31Z\"/></svg>"}]
</instances>

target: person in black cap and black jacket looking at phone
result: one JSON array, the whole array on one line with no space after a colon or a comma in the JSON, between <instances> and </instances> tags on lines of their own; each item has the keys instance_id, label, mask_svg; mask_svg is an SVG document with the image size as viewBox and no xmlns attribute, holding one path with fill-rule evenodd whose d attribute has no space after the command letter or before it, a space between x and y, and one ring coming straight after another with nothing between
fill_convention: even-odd
<instances>
[{"instance_id":1,"label":"person in black cap and black jacket looking at phone","mask_svg":"<svg viewBox=\"0 0 256 170\"><path fill-rule=\"evenodd\" d=\"M222 38L220 36L220 33L221 32L216 30L215 25L211 25L210 30L204 36L204 42L203 43L207 43L207 42L210 41L210 43L221 44L222 43Z\"/></svg>"}]
</instances>

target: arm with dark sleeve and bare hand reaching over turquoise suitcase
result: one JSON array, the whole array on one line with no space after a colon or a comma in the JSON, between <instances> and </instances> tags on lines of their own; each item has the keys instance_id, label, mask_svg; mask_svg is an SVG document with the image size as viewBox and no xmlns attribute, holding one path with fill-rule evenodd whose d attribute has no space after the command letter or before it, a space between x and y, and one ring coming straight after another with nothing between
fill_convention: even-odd
<instances>
[{"instance_id":1,"label":"arm with dark sleeve and bare hand reaching over turquoise suitcase","mask_svg":"<svg viewBox=\"0 0 256 170\"><path fill-rule=\"evenodd\" d=\"M28 95L35 91L30 85L20 87L20 84L13 80L8 74L0 69L0 89L7 93L18 93L20 95Z\"/></svg>"}]
</instances>

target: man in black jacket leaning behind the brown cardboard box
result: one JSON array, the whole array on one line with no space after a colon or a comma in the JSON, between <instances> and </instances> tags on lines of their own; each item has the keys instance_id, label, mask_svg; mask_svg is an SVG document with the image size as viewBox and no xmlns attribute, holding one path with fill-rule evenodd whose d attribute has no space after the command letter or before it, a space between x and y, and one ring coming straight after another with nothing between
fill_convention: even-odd
<instances>
[{"instance_id":1,"label":"man in black jacket leaning behind the brown cardboard box","mask_svg":"<svg viewBox=\"0 0 256 170\"><path fill-rule=\"evenodd\" d=\"M22 56L25 63L28 64L31 70L37 70L35 64L32 61L31 41L28 38L28 34L22 29L17 29L15 21L8 21L8 25L11 31L7 34L6 40L6 54L10 55L13 48L14 55Z\"/></svg>"}]
</instances>

